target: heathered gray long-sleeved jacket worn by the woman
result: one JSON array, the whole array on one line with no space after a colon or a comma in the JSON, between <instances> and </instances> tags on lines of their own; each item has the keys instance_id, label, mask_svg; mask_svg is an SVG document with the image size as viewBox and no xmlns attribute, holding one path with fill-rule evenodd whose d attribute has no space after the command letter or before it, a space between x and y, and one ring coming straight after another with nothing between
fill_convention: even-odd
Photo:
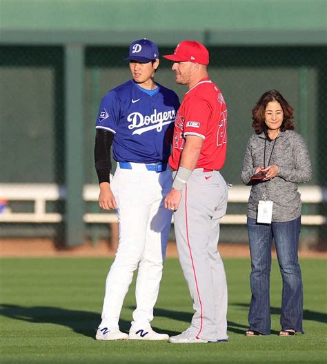
<instances>
[{"instance_id":1,"label":"heathered gray long-sleeved jacket worn by the woman","mask_svg":"<svg viewBox=\"0 0 327 364\"><path fill-rule=\"evenodd\" d=\"M268 167L269 158L269 165L279 166L277 176L266 182L251 181L257 167ZM297 184L310 181L312 174L308 147L297 132L281 132L275 141L266 139L264 132L250 136L241 172L243 183L252 185L248 199L248 217L257 219L257 205L265 192L266 199L273 201L273 222L297 219L301 215L301 196L297 191Z\"/></svg>"}]
</instances>

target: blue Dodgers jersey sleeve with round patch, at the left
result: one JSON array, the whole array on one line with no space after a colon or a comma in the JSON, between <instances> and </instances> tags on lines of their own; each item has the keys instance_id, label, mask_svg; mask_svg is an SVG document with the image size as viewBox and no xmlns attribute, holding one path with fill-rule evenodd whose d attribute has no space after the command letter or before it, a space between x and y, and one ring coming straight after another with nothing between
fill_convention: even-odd
<instances>
[{"instance_id":1,"label":"blue Dodgers jersey sleeve with round patch, at the left","mask_svg":"<svg viewBox=\"0 0 327 364\"><path fill-rule=\"evenodd\" d=\"M116 134L120 119L121 102L117 92L110 91L101 100L96 129L108 130Z\"/></svg>"}]
</instances>

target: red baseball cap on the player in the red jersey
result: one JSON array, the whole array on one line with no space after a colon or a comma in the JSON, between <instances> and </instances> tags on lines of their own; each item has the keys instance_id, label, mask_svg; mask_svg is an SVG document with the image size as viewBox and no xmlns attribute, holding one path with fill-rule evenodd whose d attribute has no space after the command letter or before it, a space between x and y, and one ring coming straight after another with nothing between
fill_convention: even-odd
<instances>
[{"instance_id":1,"label":"red baseball cap on the player in the red jersey","mask_svg":"<svg viewBox=\"0 0 327 364\"><path fill-rule=\"evenodd\" d=\"M197 41L181 41L175 48L174 54L168 54L163 57L175 62L209 64L209 52L207 48Z\"/></svg>"}]
</instances>

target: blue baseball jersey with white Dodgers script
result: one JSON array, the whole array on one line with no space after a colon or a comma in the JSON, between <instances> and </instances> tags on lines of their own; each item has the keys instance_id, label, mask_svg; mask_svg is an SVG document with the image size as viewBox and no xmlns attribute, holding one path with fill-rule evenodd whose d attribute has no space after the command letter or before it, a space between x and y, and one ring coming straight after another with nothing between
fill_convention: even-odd
<instances>
[{"instance_id":1,"label":"blue baseball jersey with white Dodgers script","mask_svg":"<svg viewBox=\"0 0 327 364\"><path fill-rule=\"evenodd\" d=\"M179 99L172 90L157 85L159 92L150 96L130 80L101 100L95 128L114 134L115 161L168 161Z\"/></svg>"}]
</instances>

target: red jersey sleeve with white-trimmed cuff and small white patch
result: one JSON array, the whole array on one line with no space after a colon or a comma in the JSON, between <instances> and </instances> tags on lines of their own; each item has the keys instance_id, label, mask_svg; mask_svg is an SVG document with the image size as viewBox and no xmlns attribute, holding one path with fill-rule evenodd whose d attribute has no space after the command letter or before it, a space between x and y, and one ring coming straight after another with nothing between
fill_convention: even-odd
<instances>
[{"instance_id":1,"label":"red jersey sleeve with white-trimmed cuff and small white patch","mask_svg":"<svg viewBox=\"0 0 327 364\"><path fill-rule=\"evenodd\" d=\"M205 139L211 107L205 99L191 98L185 108L184 136L197 135Z\"/></svg>"}]
</instances>

